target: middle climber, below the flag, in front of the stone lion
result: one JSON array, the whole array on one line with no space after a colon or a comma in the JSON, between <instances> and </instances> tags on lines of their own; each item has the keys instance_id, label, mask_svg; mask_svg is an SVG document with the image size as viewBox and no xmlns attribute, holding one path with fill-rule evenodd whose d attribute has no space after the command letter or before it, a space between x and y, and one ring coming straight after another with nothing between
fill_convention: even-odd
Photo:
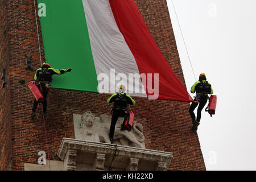
<instances>
[{"instance_id":1,"label":"middle climber, below the flag, in front of the stone lion","mask_svg":"<svg viewBox=\"0 0 256 182\"><path fill-rule=\"evenodd\" d=\"M135 105L135 101L131 96L125 93L125 86L120 85L119 86L119 92L114 93L111 97L109 97L108 103L114 102L114 107L113 107L113 114L112 114L112 120L111 120L111 125L109 129L109 139L110 142L114 142L114 131L115 131L115 124L117 123L118 117L125 117L125 111L127 109L127 105ZM121 125L121 130L125 130L125 120L123 121Z\"/></svg>"}]
</instances>

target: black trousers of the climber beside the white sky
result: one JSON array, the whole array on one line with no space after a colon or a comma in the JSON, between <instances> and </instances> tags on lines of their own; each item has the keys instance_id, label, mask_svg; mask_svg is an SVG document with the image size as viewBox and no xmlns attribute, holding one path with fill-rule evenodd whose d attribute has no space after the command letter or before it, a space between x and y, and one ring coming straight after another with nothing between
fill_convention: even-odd
<instances>
[{"instance_id":1,"label":"black trousers of the climber beside the white sky","mask_svg":"<svg viewBox=\"0 0 256 182\"><path fill-rule=\"evenodd\" d=\"M196 98L194 99L194 101L196 101ZM197 121L200 122L201 119L201 111L204 109L205 104L207 104L208 101L208 96L206 95L200 95L200 101L199 104L198 103L192 103L191 106L189 107L189 114L191 115L192 121ZM197 108L197 116L194 113L194 110Z\"/></svg>"}]
</instances>

